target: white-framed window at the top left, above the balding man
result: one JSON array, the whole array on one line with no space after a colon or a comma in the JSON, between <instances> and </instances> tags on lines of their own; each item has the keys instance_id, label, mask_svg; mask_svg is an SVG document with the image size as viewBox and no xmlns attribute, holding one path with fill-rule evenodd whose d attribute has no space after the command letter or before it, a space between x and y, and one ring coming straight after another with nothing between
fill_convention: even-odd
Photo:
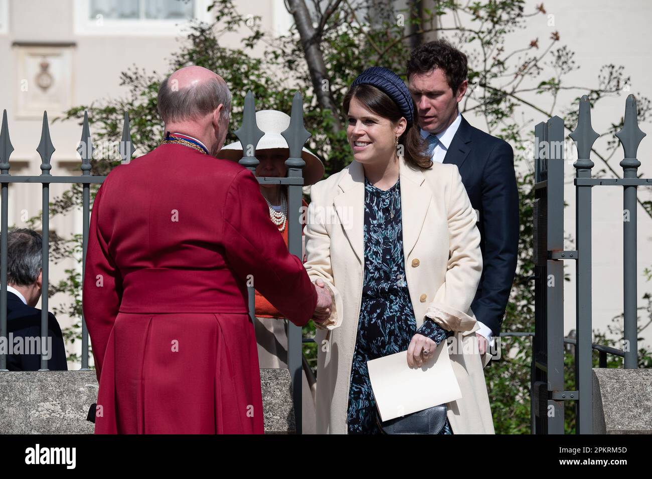
<instances>
[{"instance_id":1,"label":"white-framed window at the top left, above the balding man","mask_svg":"<svg viewBox=\"0 0 652 479\"><path fill-rule=\"evenodd\" d=\"M211 21L210 0L76 0L77 35L178 35L190 20Z\"/></svg>"}]
</instances>

